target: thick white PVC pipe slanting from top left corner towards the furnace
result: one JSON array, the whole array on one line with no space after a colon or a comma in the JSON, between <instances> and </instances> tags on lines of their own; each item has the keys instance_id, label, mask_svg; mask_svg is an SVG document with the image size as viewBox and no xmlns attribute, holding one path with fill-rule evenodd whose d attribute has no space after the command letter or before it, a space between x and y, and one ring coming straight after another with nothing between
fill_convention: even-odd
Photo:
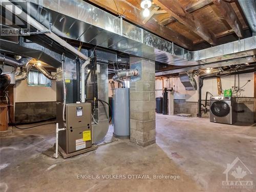
<instances>
[{"instance_id":1,"label":"thick white PVC pipe slanting from top left corner towards the furnace","mask_svg":"<svg viewBox=\"0 0 256 192\"><path fill-rule=\"evenodd\" d=\"M1 4L2 3L6 3L7 0L0 0ZM12 5L12 6L6 6L5 8L7 10L9 10L10 12L12 12L13 14L16 13L20 13L20 14L15 14L16 16L18 16L19 18L22 18L23 20L25 20L28 24L30 24L31 26L35 27L37 30L39 31L49 31L49 29L47 29L44 25L40 24L37 22L37 20L35 20L34 18L32 18L30 15L28 15L27 13L25 13L23 10L21 10L20 8L18 8L17 6L15 6L14 4L12 4L10 1L8 1L8 5ZM15 7L15 8L14 8ZM49 36L50 38L52 38L53 40L57 41L61 46L67 48L68 50L72 51L73 53L75 53L76 55L78 55L80 58L87 60L89 59L88 56L82 54L80 51L78 51L77 49L75 49L73 46L71 46L70 44L68 44L68 42L66 42L65 40L61 39L59 36L57 36L56 34L54 34L53 32L51 33L45 33L47 36Z\"/></svg>"}]
</instances>

